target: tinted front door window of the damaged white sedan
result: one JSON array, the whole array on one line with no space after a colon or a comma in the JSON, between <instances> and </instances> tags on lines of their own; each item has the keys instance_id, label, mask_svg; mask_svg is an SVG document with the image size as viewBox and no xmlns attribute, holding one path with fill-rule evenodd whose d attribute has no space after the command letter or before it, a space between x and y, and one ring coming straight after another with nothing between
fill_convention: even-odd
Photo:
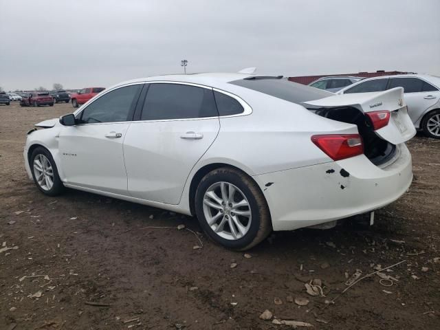
<instances>
[{"instance_id":1,"label":"tinted front door window of the damaged white sedan","mask_svg":"<svg viewBox=\"0 0 440 330\"><path fill-rule=\"evenodd\" d=\"M83 110L80 122L125 122L137 101L141 87L142 85L131 85L109 91Z\"/></svg>"}]
</instances>

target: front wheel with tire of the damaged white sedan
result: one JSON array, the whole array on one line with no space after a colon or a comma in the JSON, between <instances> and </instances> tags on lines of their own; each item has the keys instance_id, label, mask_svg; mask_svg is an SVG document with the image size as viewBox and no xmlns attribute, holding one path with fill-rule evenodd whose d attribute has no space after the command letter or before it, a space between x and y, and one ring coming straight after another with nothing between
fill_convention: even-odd
<instances>
[{"instance_id":1,"label":"front wheel with tire of the damaged white sedan","mask_svg":"<svg viewBox=\"0 0 440 330\"><path fill-rule=\"evenodd\" d=\"M41 146L32 151L30 168L34 183L47 196L59 195L64 190L54 158Z\"/></svg>"}]
</instances>

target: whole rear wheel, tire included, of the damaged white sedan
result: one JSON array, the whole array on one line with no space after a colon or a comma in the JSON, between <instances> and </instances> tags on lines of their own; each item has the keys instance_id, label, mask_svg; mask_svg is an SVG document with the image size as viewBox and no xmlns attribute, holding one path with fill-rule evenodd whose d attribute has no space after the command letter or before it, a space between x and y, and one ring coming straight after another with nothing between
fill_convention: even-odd
<instances>
[{"instance_id":1,"label":"whole rear wheel, tire included, of the damaged white sedan","mask_svg":"<svg viewBox=\"0 0 440 330\"><path fill-rule=\"evenodd\" d=\"M195 194L201 228L232 250L248 250L272 231L269 207L256 182L234 168L212 170Z\"/></svg>"}]
</instances>

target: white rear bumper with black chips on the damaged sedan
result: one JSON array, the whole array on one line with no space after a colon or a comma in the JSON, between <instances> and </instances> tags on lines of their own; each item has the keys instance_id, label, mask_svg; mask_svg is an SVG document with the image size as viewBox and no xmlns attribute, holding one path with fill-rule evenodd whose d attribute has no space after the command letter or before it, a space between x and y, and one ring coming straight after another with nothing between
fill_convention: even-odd
<instances>
[{"instance_id":1,"label":"white rear bumper with black chips on the damaged sedan","mask_svg":"<svg viewBox=\"0 0 440 330\"><path fill-rule=\"evenodd\" d=\"M397 146L392 164L379 168L364 155L256 175L274 230L294 230L382 208L408 190L411 155Z\"/></svg>"}]
</instances>

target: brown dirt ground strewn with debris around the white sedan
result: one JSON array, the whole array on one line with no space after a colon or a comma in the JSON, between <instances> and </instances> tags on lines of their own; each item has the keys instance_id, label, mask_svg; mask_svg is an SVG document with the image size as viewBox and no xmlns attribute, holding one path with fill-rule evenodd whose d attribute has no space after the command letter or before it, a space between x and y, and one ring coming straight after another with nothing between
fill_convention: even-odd
<instances>
[{"instance_id":1,"label":"brown dirt ground strewn with debris around the white sedan","mask_svg":"<svg viewBox=\"0 0 440 330\"><path fill-rule=\"evenodd\" d=\"M42 195L25 174L25 133L69 112L0 106L0 249L12 248L0 252L0 329L292 329L261 320L265 309L313 329L440 329L440 141L410 141L413 184L373 227L278 232L246 258L191 217L75 190ZM340 295L356 270L401 261L382 272L391 281L375 274ZM307 294L313 279L325 297Z\"/></svg>"}]
</instances>

